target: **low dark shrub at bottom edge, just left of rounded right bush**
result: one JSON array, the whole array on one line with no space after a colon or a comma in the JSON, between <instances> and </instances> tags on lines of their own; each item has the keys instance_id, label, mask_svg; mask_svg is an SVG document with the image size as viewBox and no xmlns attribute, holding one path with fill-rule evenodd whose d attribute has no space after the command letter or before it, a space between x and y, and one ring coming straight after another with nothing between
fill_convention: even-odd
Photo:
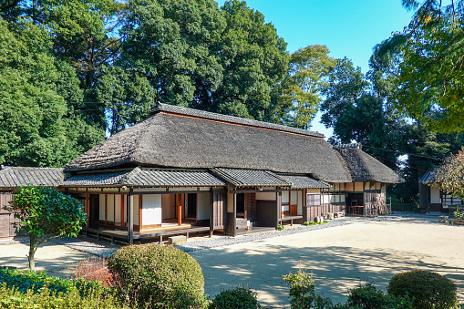
<instances>
[{"instance_id":1,"label":"low dark shrub at bottom edge, just left of rounded right bush","mask_svg":"<svg viewBox=\"0 0 464 309\"><path fill-rule=\"evenodd\" d=\"M360 286L350 290L348 300L346 301L347 308L363 308L363 309L410 309L412 308L411 299L407 296L394 296L384 294L382 291L370 283L366 286Z\"/></svg>"}]
</instances>

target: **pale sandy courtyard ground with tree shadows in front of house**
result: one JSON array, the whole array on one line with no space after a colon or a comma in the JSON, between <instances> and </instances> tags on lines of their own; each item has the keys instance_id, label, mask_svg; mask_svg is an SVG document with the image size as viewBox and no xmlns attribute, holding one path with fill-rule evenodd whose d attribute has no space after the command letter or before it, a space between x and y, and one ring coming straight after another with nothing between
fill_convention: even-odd
<instances>
[{"instance_id":1,"label":"pale sandy courtyard ground with tree shadows in front of house","mask_svg":"<svg viewBox=\"0 0 464 309\"><path fill-rule=\"evenodd\" d=\"M400 272L423 269L446 275L464 301L464 226L438 223L435 216L356 221L318 231L191 252L201 265L211 296L242 284L265 306L288 306L284 274L299 267L313 273L316 293L345 302L348 289L374 283L386 289ZM0 244L0 266L27 268L26 244ZM66 278L70 265L90 257L47 243L36 252L36 268Z\"/></svg>"}]
</instances>

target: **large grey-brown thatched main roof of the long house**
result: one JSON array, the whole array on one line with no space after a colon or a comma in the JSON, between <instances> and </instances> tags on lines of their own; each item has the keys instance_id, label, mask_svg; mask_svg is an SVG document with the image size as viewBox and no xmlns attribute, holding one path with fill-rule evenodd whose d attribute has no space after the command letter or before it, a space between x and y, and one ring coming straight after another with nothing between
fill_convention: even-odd
<instances>
[{"instance_id":1,"label":"large grey-brown thatched main roof of the long house","mask_svg":"<svg viewBox=\"0 0 464 309\"><path fill-rule=\"evenodd\" d=\"M150 118L88 150L65 170L225 168L351 182L344 160L323 137L304 129L160 104Z\"/></svg>"}]
</instances>

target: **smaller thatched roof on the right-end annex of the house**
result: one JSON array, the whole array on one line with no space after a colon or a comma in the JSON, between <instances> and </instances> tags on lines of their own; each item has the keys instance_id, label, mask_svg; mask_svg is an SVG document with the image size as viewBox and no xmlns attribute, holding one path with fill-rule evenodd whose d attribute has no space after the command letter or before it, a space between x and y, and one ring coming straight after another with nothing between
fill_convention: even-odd
<instances>
[{"instance_id":1,"label":"smaller thatched roof on the right-end annex of the house","mask_svg":"<svg viewBox=\"0 0 464 309\"><path fill-rule=\"evenodd\" d=\"M345 161L353 181L376 180L387 183L400 183L405 180L385 164L364 152L360 144L335 147Z\"/></svg>"}]
</instances>

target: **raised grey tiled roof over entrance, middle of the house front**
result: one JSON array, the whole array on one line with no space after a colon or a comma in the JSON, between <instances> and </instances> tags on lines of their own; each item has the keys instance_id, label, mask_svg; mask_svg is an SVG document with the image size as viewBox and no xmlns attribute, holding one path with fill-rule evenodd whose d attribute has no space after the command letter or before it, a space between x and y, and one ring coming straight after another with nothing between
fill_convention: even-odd
<instances>
[{"instance_id":1,"label":"raised grey tiled roof over entrance, middle of the house front","mask_svg":"<svg viewBox=\"0 0 464 309\"><path fill-rule=\"evenodd\" d=\"M211 169L217 176L235 187L281 186L289 187L290 182L269 170Z\"/></svg>"}]
</instances>

